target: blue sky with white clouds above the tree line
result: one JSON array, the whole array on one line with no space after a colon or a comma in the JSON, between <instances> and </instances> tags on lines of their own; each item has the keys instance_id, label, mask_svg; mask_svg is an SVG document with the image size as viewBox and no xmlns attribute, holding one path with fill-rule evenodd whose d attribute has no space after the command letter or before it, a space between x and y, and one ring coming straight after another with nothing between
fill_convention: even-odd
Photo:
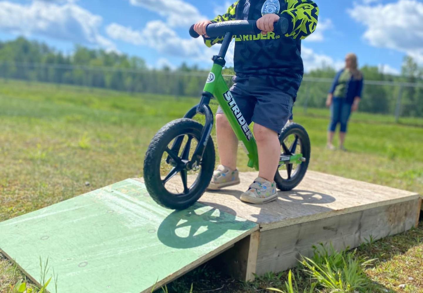
<instances>
[{"instance_id":1,"label":"blue sky with white clouds above the tree line","mask_svg":"<svg viewBox=\"0 0 423 293\"><path fill-rule=\"evenodd\" d=\"M303 41L306 70L339 68L346 53L360 65L398 73L406 54L423 63L423 0L316 0L316 32ZM228 0L0 1L0 39L45 41L65 53L74 44L143 57L152 68L181 62L209 67L208 49L187 33L190 24L224 13ZM231 54L228 56L231 63Z\"/></svg>"}]
</instances>

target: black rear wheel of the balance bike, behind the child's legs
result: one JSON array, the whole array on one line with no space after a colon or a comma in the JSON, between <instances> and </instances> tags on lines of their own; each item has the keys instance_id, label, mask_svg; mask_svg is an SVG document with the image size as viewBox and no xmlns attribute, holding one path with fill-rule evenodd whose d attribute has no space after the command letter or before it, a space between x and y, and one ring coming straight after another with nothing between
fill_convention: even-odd
<instances>
[{"instance_id":1,"label":"black rear wheel of the balance bike, behind the child's legs","mask_svg":"<svg viewBox=\"0 0 423 293\"><path fill-rule=\"evenodd\" d=\"M277 188L288 191L296 187L304 178L310 161L310 138L307 131L297 124L287 124L279 136L281 157L302 154L302 160L296 163L280 165L275 174Z\"/></svg>"}]
</instances>

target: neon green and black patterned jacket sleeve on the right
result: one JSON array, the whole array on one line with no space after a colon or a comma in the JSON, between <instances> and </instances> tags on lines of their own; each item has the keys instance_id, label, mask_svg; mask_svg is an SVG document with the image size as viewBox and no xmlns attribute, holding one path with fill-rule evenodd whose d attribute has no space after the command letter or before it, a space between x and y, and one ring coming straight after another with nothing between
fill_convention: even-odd
<instances>
[{"instance_id":1,"label":"neon green and black patterned jacket sleeve on the right","mask_svg":"<svg viewBox=\"0 0 423 293\"><path fill-rule=\"evenodd\" d=\"M305 39L316 30L319 7L311 0L287 0L288 9L282 16L289 21L286 37Z\"/></svg>"}]
</instances>

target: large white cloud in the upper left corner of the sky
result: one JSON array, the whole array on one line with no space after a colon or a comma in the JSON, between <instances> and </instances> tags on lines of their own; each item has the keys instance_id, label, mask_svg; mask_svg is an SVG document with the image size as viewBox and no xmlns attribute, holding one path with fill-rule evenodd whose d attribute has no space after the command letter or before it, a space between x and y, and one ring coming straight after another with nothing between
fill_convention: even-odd
<instances>
[{"instance_id":1,"label":"large white cloud in the upper left corner of the sky","mask_svg":"<svg viewBox=\"0 0 423 293\"><path fill-rule=\"evenodd\" d=\"M0 2L0 30L42 35L74 43L100 46L115 50L114 44L99 33L102 17L66 1L58 5L52 1L36 0L28 5Z\"/></svg>"}]
</instances>

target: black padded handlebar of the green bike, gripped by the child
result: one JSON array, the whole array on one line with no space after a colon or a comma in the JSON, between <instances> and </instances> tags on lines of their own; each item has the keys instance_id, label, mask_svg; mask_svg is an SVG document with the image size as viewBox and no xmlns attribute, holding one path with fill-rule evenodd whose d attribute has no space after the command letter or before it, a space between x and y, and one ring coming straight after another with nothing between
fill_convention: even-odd
<instances>
[{"instance_id":1,"label":"black padded handlebar of the green bike, gripped by the child","mask_svg":"<svg viewBox=\"0 0 423 293\"><path fill-rule=\"evenodd\" d=\"M277 35L284 35L288 31L288 27L288 19L281 17L275 22L274 32ZM233 35L259 34L261 30L257 27L256 20L231 20L228 22L207 24L206 33L210 38L217 38L226 33L232 33ZM200 36L195 32L194 25L190 28L190 35L192 38L198 38Z\"/></svg>"}]
</instances>

